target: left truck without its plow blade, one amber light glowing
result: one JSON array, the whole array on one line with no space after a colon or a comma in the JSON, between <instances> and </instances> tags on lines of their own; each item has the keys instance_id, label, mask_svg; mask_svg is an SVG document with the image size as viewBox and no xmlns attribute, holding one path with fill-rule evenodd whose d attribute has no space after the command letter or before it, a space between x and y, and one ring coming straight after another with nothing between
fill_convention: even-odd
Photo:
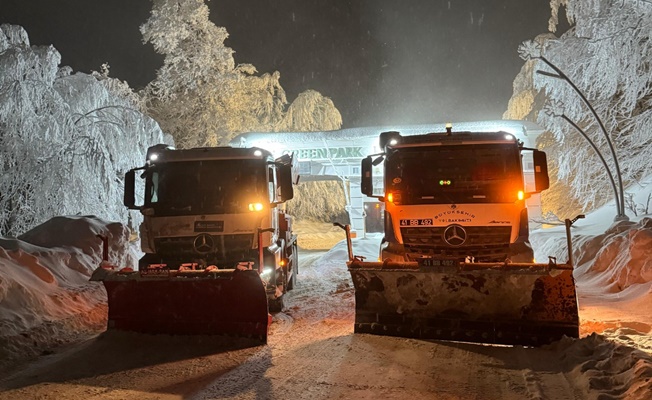
<instances>
[{"instance_id":1,"label":"left truck without its plow blade, one amber light glowing","mask_svg":"<svg viewBox=\"0 0 652 400\"><path fill-rule=\"evenodd\" d=\"M125 205L143 215L139 270L254 269L270 300L280 298L298 268L291 219L279 207L293 197L292 162L255 147L149 148L145 165L125 176Z\"/></svg>"}]
</instances>

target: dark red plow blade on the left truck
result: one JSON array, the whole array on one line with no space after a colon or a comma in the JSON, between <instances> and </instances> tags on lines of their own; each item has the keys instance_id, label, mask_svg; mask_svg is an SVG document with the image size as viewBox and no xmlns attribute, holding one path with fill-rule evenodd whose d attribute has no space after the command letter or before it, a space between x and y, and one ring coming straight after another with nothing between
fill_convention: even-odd
<instances>
[{"instance_id":1,"label":"dark red plow blade on the left truck","mask_svg":"<svg viewBox=\"0 0 652 400\"><path fill-rule=\"evenodd\" d=\"M271 316L253 270L140 273L98 268L108 297L108 329L150 334L232 335L267 342Z\"/></svg>"}]
</instances>

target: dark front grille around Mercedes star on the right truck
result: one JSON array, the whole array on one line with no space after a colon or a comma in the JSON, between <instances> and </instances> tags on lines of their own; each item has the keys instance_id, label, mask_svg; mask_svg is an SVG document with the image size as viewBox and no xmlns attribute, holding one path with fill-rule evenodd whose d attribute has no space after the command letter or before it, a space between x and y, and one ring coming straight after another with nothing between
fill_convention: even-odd
<instances>
[{"instance_id":1,"label":"dark front grille around Mercedes star on the right truck","mask_svg":"<svg viewBox=\"0 0 652 400\"><path fill-rule=\"evenodd\" d=\"M464 227L467 238L459 247L453 247L444 241L445 229L446 227L432 226L401 228L408 258L441 257L463 261L467 256L471 256L476 262L493 262L504 261L509 254L512 233L509 226Z\"/></svg>"}]
</instances>

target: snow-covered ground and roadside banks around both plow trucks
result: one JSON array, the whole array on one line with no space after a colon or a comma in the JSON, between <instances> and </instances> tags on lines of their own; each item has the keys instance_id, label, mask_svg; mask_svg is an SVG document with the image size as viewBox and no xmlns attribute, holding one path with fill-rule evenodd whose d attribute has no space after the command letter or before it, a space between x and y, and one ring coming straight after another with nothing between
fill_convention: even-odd
<instances>
[{"instance_id":1,"label":"snow-covered ground and roadside banks around both plow trucks","mask_svg":"<svg viewBox=\"0 0 652 400\"><path fill-rule=\"evenodd\" d=\"M541 349L354 335L343 241L300 252L299 286L267 346L102 334L106 295L88 281L102 257L97 235L127 264L127 230L58 217L0 240L0 398L649 399L652 218L613 223L613 215L607 206L572 228L582 338ZM533 232L537 258L564 262L564 235ZM354 239L354 252L373 259L378 242Z\"/></svg>"}]
</instances>

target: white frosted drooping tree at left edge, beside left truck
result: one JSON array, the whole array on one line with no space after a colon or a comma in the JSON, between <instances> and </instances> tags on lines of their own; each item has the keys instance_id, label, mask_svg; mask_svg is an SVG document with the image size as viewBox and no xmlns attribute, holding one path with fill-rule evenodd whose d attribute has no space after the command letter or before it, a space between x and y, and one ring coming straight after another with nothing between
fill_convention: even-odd
<instances>
[{"instance_id":1,"label":"white frosted drooping tree at left edge, beside left truck","mask_svg":"<svg viewBox=\"0 0 652 400\"><path fill-rule=\"evenodd\" d=\"M0 26L0 236L57 215L126 223L124 172L171 143L124 82L71 74L60 60L22 27Z\"/></svg>"}]
</instances>

